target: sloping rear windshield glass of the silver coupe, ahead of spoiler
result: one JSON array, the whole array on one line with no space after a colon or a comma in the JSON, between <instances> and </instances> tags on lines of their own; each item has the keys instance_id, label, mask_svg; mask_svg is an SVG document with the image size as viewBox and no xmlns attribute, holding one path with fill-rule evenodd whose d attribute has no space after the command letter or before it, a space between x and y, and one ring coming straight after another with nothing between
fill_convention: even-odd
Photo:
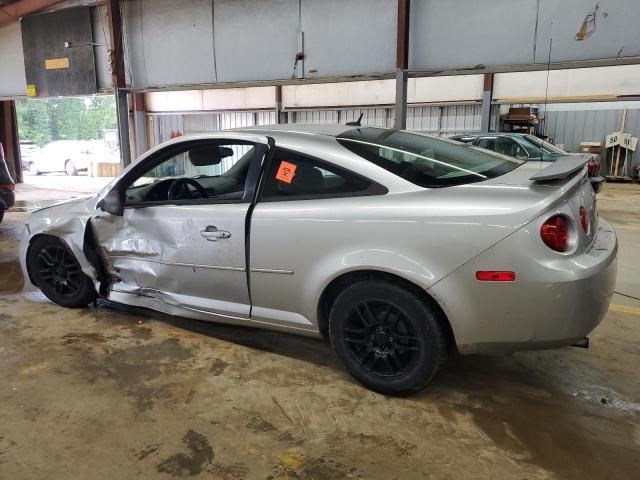
<instances>
[{"instance_id":1,"label":"sloping rear windshield glass of the silver coupe, ahead of spoiler","mask_svg":"<svg viewBox=\"0 0 640 480\"><path fill-rule=\"evenodd\" d=\"M337 140L362 158L426 188L481 182L522 164L469 145L401 130L358 128Z\"/></svg>"}]
</instances>

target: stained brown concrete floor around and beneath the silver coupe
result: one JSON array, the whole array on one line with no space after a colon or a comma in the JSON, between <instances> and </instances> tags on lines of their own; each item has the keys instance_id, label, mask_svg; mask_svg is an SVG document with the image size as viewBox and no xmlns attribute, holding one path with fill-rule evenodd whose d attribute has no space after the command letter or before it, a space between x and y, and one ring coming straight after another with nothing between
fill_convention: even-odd
<instances>
[{"instance_id":1,"label":"stained brown concrete floor around and beneath the silver coupe","mask_svg":"<svg viewBox=\"0 0 640 480\"><path fill-rule=\"evenodd\" d=\"M640 186L599 204L640 296ZM25 216L0 225L2 479L638 478L640 302L616 295L589 350L455 358L390 398L321 341L23 291Z\"/></svg>"}]
</instances>

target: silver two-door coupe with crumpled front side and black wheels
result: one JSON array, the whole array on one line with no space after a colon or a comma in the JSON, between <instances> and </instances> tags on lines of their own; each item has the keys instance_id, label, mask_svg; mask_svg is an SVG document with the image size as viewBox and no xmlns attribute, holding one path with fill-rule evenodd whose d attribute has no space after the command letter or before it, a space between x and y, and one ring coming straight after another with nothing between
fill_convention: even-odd
<instances>
[{"instance_id":1,"label":"silver two-door coupe with crumpled front side and black wheels","mask_svg":"<svg viewBox=\"0 0 640 480\"><path fill-rule=\"evenodd\" d=\"M33 213L22 267L66 307L325 336L358 381L407 393L452 351L572 345L602 320L617 240L586 161L337 125L180 137Z\"/></svg>"}]
</instances>

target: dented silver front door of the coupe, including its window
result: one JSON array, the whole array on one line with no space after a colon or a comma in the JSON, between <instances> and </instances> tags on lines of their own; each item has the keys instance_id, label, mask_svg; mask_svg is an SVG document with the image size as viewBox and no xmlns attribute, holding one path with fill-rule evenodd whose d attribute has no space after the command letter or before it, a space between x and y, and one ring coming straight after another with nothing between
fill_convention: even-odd
<instances>
[{"instance_id":1,"label":"dented silver front door of the coupe, including its window","mask_svg":"<svg viewBox=\"0 0 640 480\"><path fill-rule=\"evenodd\" d=\"M245 225L267 139L245 137L174 143L115 185L122 215L92 219L110 297L249 317Z\"/></svg>"}]
</instances>

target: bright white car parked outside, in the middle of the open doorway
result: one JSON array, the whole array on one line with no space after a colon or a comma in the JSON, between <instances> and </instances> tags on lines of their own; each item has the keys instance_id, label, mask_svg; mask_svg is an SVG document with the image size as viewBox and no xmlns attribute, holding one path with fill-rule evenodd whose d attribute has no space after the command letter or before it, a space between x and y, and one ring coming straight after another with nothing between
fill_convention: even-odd
<instances>
[{"instance_id":1,"label":"bright white car parked outside, in the middle of the open doorway","mask_svg":"<svg viewBox=\"0 0 640 480\"><path fill-rule=\"evenodd\" d=\"M107 144L102 140L56 140L38 152L29 165L29 172L77 175L87 171L91 162L110 161L110 157Z\"/></svg>"}]
</instances>

